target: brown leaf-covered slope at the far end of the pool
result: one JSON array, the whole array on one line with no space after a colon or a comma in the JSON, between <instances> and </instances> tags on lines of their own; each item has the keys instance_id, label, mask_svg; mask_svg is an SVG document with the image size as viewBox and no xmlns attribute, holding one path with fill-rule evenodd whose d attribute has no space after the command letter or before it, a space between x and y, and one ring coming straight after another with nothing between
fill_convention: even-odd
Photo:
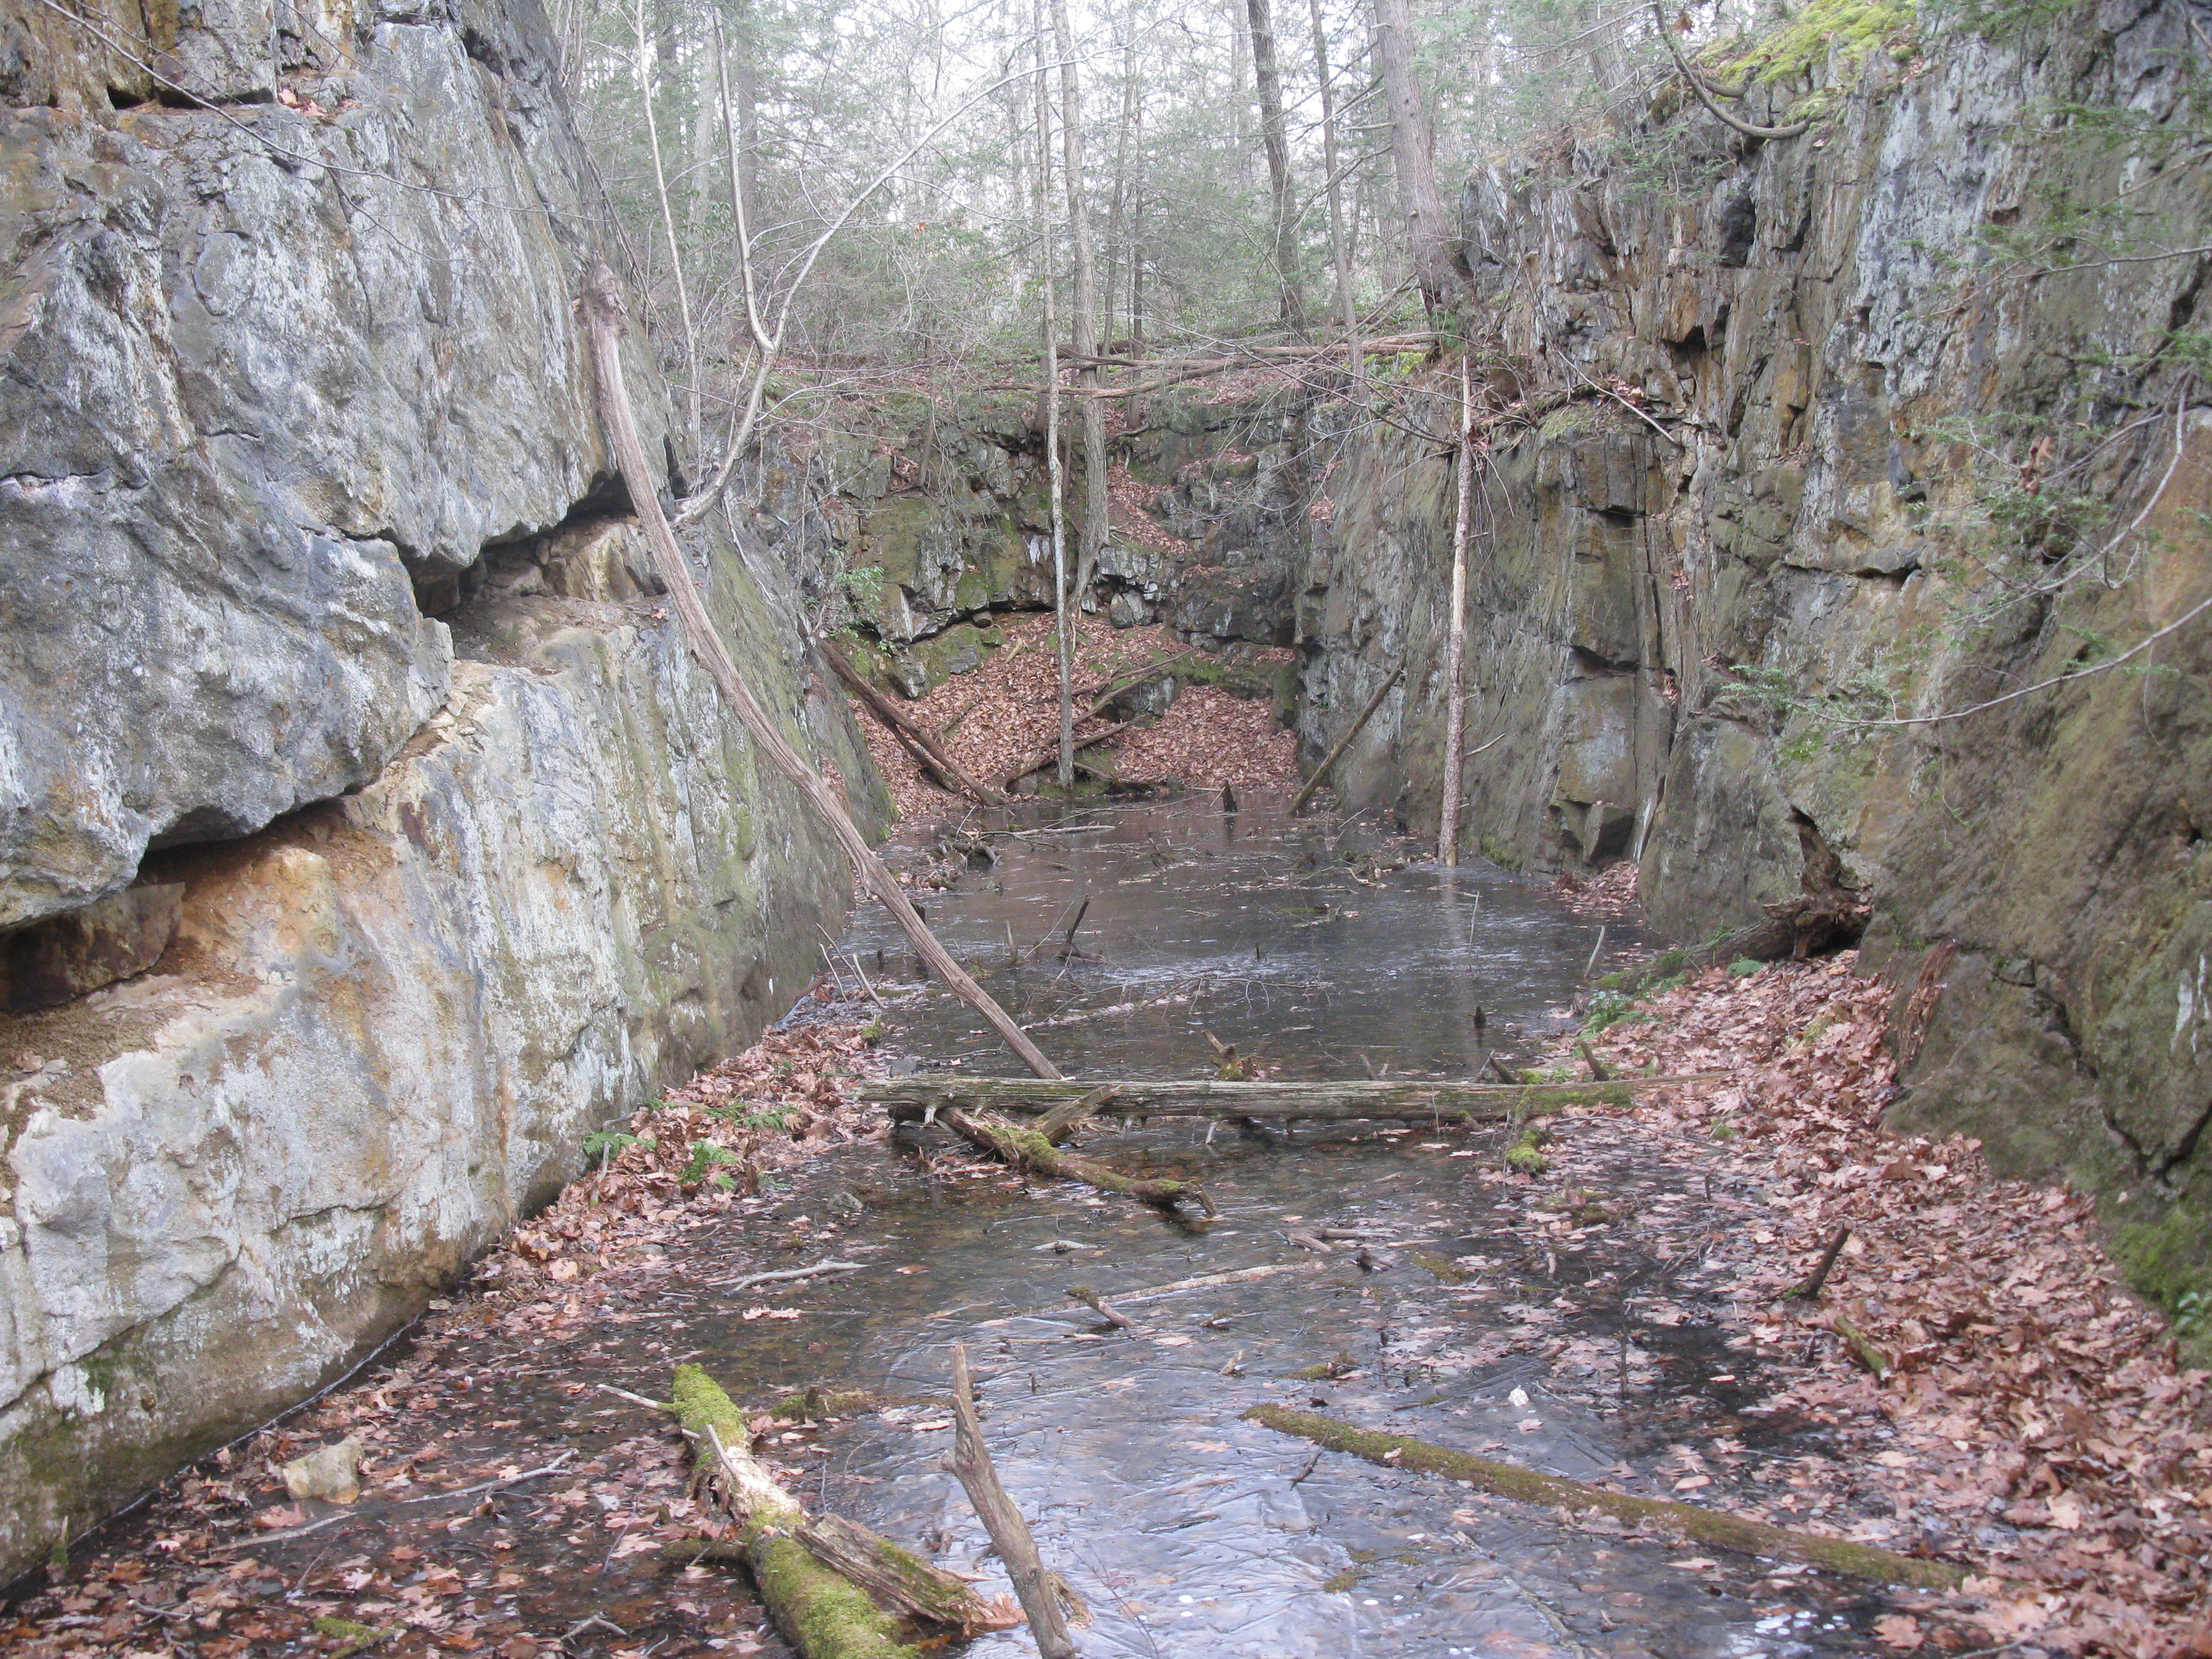
<instances>
[{"instance_id":1,"label":"brown leaf-covered slope at the far end of the pool","mask_svg":"<svg viewBox=\"0 0 2212 1659\"><path fill-rule=\"evenodd\" d=\"M1048 613L1002 617L1006 644L971 675L953 675L900 708L925 730L942 734L947 752L969 774L1004 787L1013 770L1060 741L1060 659ZM1148 664L1192 655L1168 628L1115 628L1104 617L1077 617L1077 712L1117 679ZM1241 668L1267 670L1292 659L1287 648L1237 646ZM1201 664L1208 659L1199 659ZM969 807L922 776L898 741L865 710L854 710L867 732L869 754L883 772L905 821L958 816ZM1077 721L1075 734L1113 726L1113 717ZM1265 697L1237 697L1221 686L1183 684L1168 710L1093 754L1110 754L1124 785L1234 787L1298 783L1298 739L1274 717Z\"/></svg>"}]
</instances>

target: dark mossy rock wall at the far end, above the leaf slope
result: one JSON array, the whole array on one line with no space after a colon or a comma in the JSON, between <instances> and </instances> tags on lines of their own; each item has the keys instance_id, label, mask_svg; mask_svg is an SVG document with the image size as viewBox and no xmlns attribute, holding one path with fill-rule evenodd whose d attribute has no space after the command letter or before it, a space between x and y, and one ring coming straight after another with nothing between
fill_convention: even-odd
<instances>
[{"instance_id":1,"label":"dark mossy rock wall at the far end, above the leaf slope","mask_svg":"<svg viewBox=\"0 0 2212 1659\"><path fill-rule=\"evenodd\" d=\"M1290 644L1310 500L1298 403L1181 394L1115 416L1113 535L1086 608L1230 655ZM763 445L743 498L748 533L818 615L874 635L860 655L909 697L978 668L1000 646L998 613L1053 604L1033 400L832 405ZM1066 500L1082 500L1073 458ZM876 582L841 593L849 571Z\"/></svg>"}]
</instances>

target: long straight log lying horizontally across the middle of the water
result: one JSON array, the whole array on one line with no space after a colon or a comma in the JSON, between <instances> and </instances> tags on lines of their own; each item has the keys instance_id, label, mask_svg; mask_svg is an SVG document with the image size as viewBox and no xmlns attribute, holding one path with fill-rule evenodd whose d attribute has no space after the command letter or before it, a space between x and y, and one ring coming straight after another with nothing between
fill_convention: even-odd
<instances>
[{"instance_id":1,"label":"long straight log lying horizontally across the middle of the water","mask_svg":"<svg viewBox=\"0 0 2212 1659\"><path fill-rule=\"evenodd\" d=\"M1639 1088L1723 1082L1732 1073L1699 1071L1674 1077L1608 1077L1575 1084L1460 1084L1418 1077L1340 1082L1223 1082L1201 1079L1029 1079L1029 1077L865 1077L854 1097L885 1106L894 1119L975 1106L995 1113L1048 1113L1110 1088L1091 1110L1099 1117L1363 1117L1504 1124L1515 1115L1555 1106L1626 1106Z\"/></svg>"}]
</instances>

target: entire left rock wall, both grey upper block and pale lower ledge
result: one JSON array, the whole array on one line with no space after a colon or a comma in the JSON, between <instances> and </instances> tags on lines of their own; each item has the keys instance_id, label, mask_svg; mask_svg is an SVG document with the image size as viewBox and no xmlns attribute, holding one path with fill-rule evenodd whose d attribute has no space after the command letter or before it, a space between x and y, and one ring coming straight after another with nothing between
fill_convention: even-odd
<instances>
[{"instance_id":1,"label":"entire left rock wall, both grey upper block and pale lower ledge","mask_svg":"<svg viewBox=\"0 0 2212 1659\"><path fill-rule=\"evenodd\" d=\"M341 1374L849 896L639 577L535 0L77 11L0 18L0 1575ZM880 825L781 568L695 560Z\"/></svg>"}]
</instances>

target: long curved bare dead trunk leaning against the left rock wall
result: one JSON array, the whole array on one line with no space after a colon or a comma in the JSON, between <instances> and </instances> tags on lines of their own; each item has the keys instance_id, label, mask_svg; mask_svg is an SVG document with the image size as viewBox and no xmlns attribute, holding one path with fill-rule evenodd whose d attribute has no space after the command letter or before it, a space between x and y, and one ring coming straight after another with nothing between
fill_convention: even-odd
<instances>
[{"instance_id":1,"label":"long curved bare dead trunk leaning against the left rock wall","mask_svg":"<svg viewBox=\"0 0 2212 1659\"><path fill-rule=\"evenodd\" d=\"M874 847L867 845L867 836L860 834L860 825L852 821L845 803L830 790L830 781L807 765L799 750L792 748L790 739L785 739L776 723L768 717L768 710L761 708L761 699L752 695L743 675L737 672L737 664L730 659L730 650L721 644L714 619L706 613L706 599L699 597L699 584L692 580L690 562L684 557L684 549L677 546L675 531L668 526L668 515L661 511L661 498L653 484L653 469L646 467L646 447L637 436L637 418L630 414L630 392L622 378L622 341L615 332L624 314L622 294L615 290L615 274L606 268L606 263L595 265L591 285L584 292L582 312L591 334L593 363L599 372L599 411L606 422L608 438L615 445L615 460L622 465L622 478L630 491L630 502L646 524L646 540L653 546L655 568L668 588L670 604L684 619L684 633L690 639L692 653L714 677L714 684L721 686L721 695L730 699L730 706L745 723L752 741L761 745L774 768L796 785L807 805L814 807L823 823L830 825L838 843L845 847L845 856L852 858L854 869L860 874L860 880L867 883L876 898L883 900L883 907L891 911L898 927L914 942L914 949L920 951L922 960L929 962L931 971L936 971L945 984L949 984L969 1006L991 1022L991 1029L1006 1040L1006 1046L1020 1055L1024 1066L1029 1066L1037 1077L1057 1077L1060 1066L1044 1057L1044 1051L1029 1040L1029 1033L1013 1022L1013 1015L998 1006L991 993L975 984L975 980L969 978L969 971L962 969L951 958L951 951L938 942L938 936L929 931L914 905L907 900L907 894L900 889L898 878L876 856Z\"/></svg>"}]
</instances>

